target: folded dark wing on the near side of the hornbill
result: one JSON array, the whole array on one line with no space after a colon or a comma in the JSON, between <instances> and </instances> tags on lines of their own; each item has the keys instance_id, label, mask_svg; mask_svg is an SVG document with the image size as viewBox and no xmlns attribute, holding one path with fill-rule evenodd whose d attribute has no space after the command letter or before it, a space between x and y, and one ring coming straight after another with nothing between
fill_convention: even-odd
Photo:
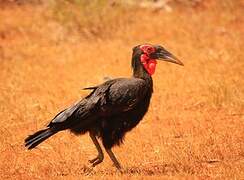
<instances>
[{"instance_id":1,"label":"folded dark wing on the near side of the hornbill","mask_svg":"<svg viewBox=\"0 0 244 180\"><path fill-rule=\"evenodd\" d=\"M87 97L61 111L48 126L66 129L101 115L112 116L129 111L145 97L146 87L146 82L142 79L120 78L88 88L93 91Z\"/></svg>"}]
</instances>

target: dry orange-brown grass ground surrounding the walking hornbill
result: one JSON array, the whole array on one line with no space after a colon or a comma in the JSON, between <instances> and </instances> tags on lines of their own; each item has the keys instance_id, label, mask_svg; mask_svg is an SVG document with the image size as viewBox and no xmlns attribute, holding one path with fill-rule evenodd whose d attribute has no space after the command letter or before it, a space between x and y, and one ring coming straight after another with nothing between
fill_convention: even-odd
<instances>
[{"instance_id":1,"label":"dry orange-brown grass ground surrounding the walking hornbill","mask_svg":"<svg viewBox=\"0 0 244 180\"><path fill-rule=\"evenodd\" d=\"M1 7L1 179L244 178L244 3L171 5L115 6L101 24L105 12L92 12L92 28L73 4L68 21L50 4ZM130 76L131 47L143 42L164 45L185 67L158 64L149 113L114 148L123 175L107 156L89 170L96 150L86 135L62 132L25 150L24 138L85 96L82 87Z\"/></svg>"}]
</instances>

